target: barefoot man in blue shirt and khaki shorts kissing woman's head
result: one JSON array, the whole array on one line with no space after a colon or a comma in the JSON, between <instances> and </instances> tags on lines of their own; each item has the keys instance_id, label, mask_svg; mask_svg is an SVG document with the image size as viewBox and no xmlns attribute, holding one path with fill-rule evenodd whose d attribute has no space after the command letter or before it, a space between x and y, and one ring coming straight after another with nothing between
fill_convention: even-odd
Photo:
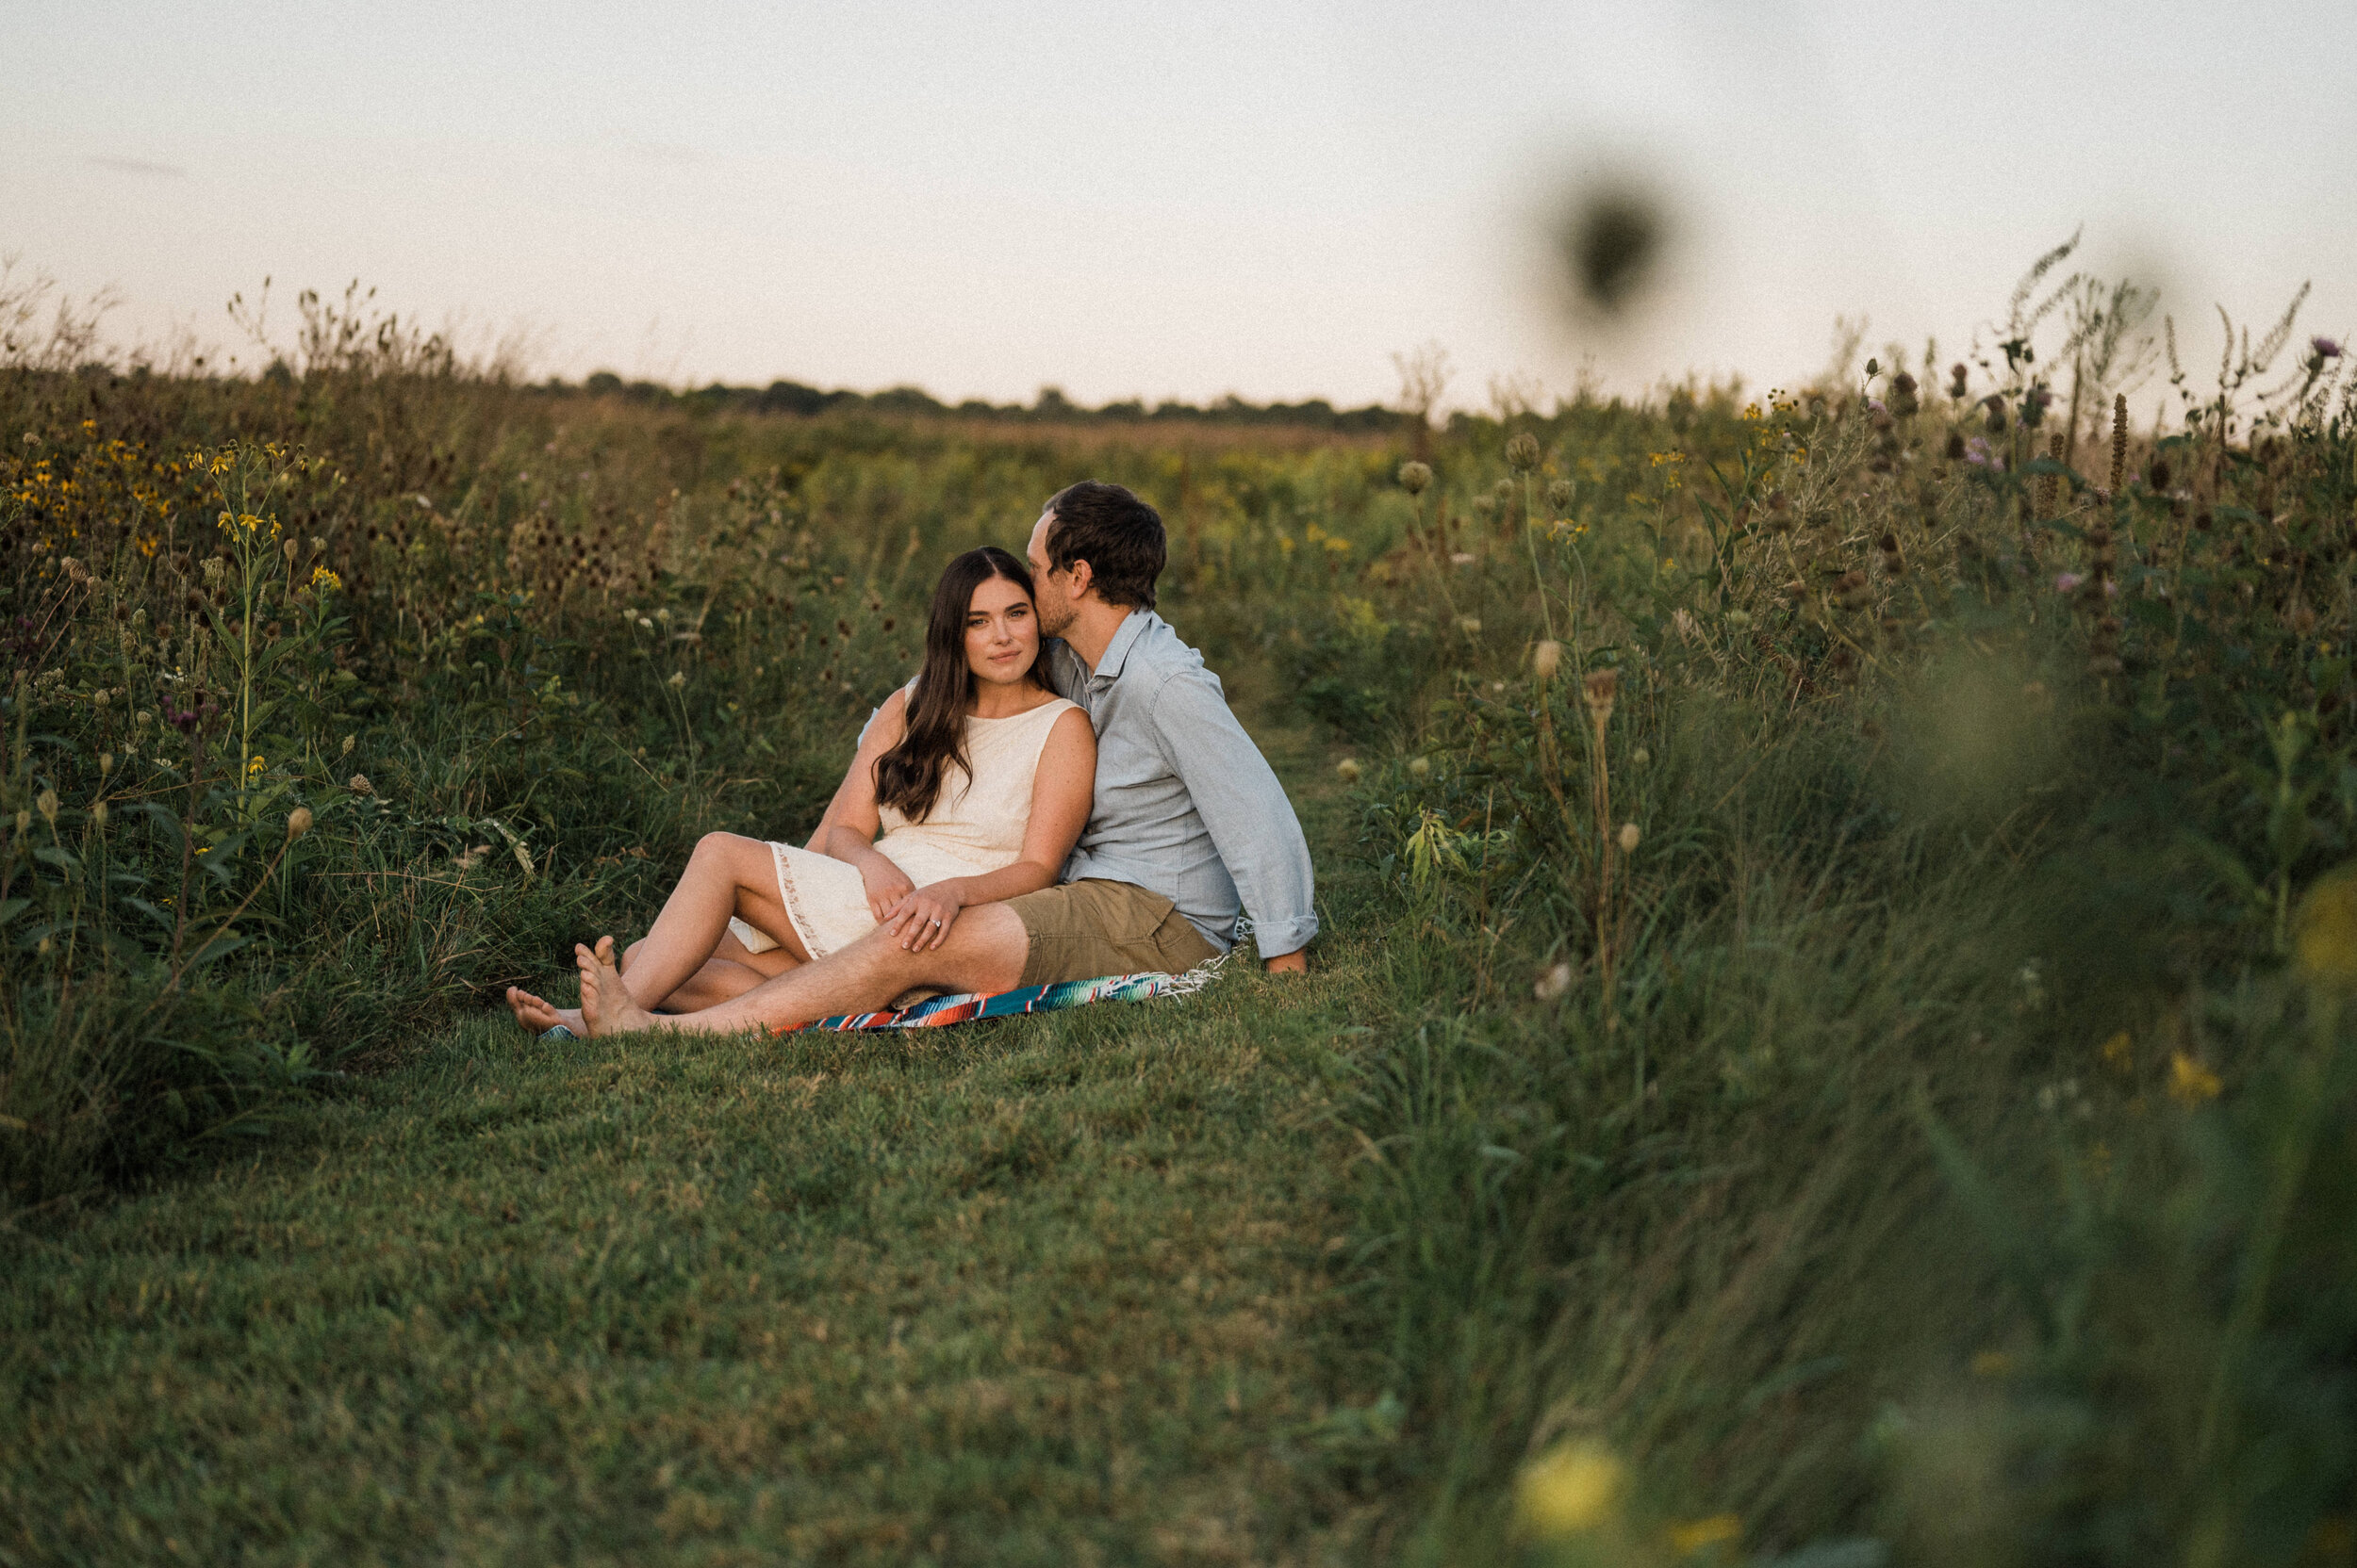
<instances>
[{"instance_id":1,"label":"barefoot man in blue shirt and khaki shorts kissing woman's head","mask_svg":"<svg viewBox=\"0 0 2357 1568\"><path fill-rule=\"evenodd\" d=\"M783 1029L919 986L1181 972L1228 951L1240 911L1270 970L1308 968L1308 841L1219 676L1155 614L1162 518L1120 485L1084 480L1047 504L1028 553L1039 631L1056 638L1044 650L1049 685L1096 725L1096 798L1063 885L976 904L929 951L879 928L735 1001L660 1019L629 1001L610 939L577 946L592 1034Z\"/></svg>"}]
</instances>

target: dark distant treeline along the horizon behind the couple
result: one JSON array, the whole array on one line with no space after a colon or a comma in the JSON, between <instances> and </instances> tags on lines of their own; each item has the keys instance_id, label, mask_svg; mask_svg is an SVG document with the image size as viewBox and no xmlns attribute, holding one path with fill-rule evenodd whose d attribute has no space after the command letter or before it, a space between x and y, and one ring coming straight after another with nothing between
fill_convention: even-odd
<instances>
[{"instance_id":1,"label":"dark distant treeline along the horizon behind the couple","mask_svg":"<svg viewBox=\"0 0 2357 1568\"><path fill-rule=\"evenodd\" d=\"M771 381L768 386L724 386L714 381L700 391L674 391L660 381L625 381L610 370L599 370L580 386L549 381L552 393L587 393L592 398L629 398L634 403L691 407L698 412L757 412L757 414L830 414L867 412L891 417L938 417L938 419L995 419L1004 424L1289 424L1322 431L1395 431L1402 414L1369 403L1367 407L1334 407L1325 398L1308 403L1244 403L1235 393L1209 403L1157 403L1146 407L1138 398L1084 407L1063 396L1056 386L1042 386L1030 407L1021 403L943 403L922 386L893 386L879 393L820 391L801 381Z\"/></svg>"}]
</instances>

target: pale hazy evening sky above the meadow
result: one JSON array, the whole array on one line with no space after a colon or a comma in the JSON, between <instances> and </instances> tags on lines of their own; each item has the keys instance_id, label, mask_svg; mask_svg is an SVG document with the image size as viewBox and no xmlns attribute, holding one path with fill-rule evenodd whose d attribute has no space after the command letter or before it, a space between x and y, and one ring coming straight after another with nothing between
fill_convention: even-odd
<instances>
[{"instance_id":1,"label":"pale hazy evening sky above the meadow","mask_svg":"<svg viewBox=\"0 0 2357 1568\"><path fill-rule=\"evenodd\" d=\"M2027 261L2357 327L2357 5L12 5L0 254L233 346L361 278L540 372L945 398L1791 381L1959 346ZM1546 219L1678 217L1603 330ZM250 351L245 351L250 353Z\"/></svg>"}]
</instances>

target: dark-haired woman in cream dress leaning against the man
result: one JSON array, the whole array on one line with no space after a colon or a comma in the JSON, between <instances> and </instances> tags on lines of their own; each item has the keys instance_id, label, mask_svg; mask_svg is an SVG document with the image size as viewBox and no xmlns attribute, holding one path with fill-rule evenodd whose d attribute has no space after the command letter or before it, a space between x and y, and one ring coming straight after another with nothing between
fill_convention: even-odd
<instances>
[{"instance_id":1,"label":"dark-haired woman in cream dress leaning against the man","mask_svg":"<svg viewBox=\"0 0 2357 1568\"><path fill-rule=\"evenodd\" d=\"M651 1012L693 1012L877 925L940 946L959 909L1056 883L1094 789L1089 716L1039 669L1030 570L966 551L933 589L924 669L867 723L811 848L705 833L622 982ZM507 1005L535 1034L589 1034L530 991Z\"/></svg>"}]
</instances>

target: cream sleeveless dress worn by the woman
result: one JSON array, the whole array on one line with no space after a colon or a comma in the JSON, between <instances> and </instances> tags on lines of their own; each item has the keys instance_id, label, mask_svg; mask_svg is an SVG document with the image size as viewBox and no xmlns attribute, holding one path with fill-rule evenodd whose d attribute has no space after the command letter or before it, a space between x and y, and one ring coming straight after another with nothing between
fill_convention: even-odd
<instances>
[{"instance_id":1,"label":"cream sleeveless dress worn by the woman","mask_svg":"<svg viewBox=\"0 0 2357 1568\"><path fill-rule=\"evenodd\" d=\"M907 871L907 881L919 888L1016 864L1023 857L1023 831L1030 826L1039 753L1047 749L1049 730L1070 711L1070 702L1054 697L1009 718L966 718L966 760L973 763L973 777L950 768L940 798L924 822L882 808L877 819L884 824L884 836L877 838L877 852ZM771 843L768 852L778 862L778 899L811 958L825 958L877 928L877 918L867 913L867 883L860 881L858 866L792 843ZM747 951L778 946L745 921L728 921L728 930Z\"/></svg>"}]
</instances>

